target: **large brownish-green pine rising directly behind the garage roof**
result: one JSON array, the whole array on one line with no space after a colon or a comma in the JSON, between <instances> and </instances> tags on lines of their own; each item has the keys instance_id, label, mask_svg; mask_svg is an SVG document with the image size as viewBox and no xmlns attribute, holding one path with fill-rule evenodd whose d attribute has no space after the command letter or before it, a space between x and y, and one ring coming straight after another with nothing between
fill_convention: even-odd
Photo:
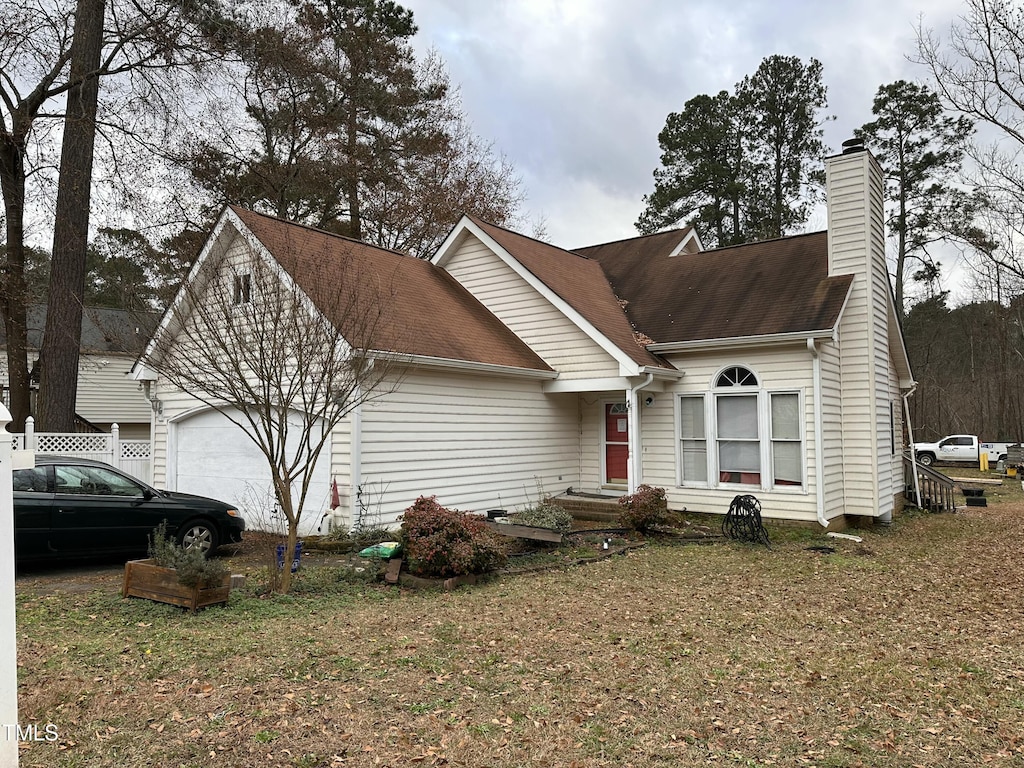
<instances>
[{"instance_id":1,"label":"large brownish-green pine rising directly behind the garage roof","mask_svg":"<svg viewBox=\"0 0 1024 768\"><path fill-rule=\"evenodd\" d=\"M236 41L214 113L177 160L211 199L425 254L466 210L497 223L518 179L467 130L436 58L418 65L412 11L379 0L293 0Z\"/></svg>"}]
</instances>

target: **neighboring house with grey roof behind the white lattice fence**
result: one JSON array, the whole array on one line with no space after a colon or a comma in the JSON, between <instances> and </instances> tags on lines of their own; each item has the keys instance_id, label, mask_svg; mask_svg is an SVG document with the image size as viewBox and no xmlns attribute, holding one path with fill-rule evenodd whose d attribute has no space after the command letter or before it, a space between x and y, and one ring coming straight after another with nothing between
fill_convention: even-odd
<instances>
[{"instance_id":1,"label":"neighboring house with grey roof behind the white lattice fence","mask_svg":"<svg viewBox=\"0 0 1024 768\"><path fill-rule=\"evenodd\" d=\"M46 306L34 304L28 311L29 368L35 366L46 327ZM79 431L109 432L120 427L125 439L150 437L152 407L144 384L129 374L150 340L159 315L106 307L82 311L82 343L78 364L78 394L75 416ZM6 335L0 337L0 377L7 402ZM33 392L33 395L35 392ZM33 397L33 406L35 398Z\"/></svg>"}]
</instances>

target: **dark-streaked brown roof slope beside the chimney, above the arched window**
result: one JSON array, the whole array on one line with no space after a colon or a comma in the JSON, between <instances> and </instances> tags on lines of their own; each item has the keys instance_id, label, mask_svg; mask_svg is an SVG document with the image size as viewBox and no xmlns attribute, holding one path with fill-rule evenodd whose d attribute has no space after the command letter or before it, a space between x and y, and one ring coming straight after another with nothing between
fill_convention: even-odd
<instances>
[{"instance_id":1,"label":"dark-streaked brown roof slope beside the chimney, above the arched window","mask_svg":"<svg viewBox=\"0 0 1024 768\"><path fill-rule=\"evenodd\" d=\"M671 258L642 240L578 253L601 264L633 325L656 343L830 329L853 280L827 275L826 232Z\"/></svg>"}]
</instances>

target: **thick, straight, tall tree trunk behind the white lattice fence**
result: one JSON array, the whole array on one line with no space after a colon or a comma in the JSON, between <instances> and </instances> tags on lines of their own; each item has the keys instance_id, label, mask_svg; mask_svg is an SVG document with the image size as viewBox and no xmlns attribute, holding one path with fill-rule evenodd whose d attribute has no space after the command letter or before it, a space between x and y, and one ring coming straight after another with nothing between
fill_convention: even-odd
<instances>
[{"instance_id":1,"label":"thick, straight, tall tree trunk behind the white lattice fence","mask_svg":"<svg viewBox=\"0 0 1024 768\"><path fill-rule=\"evenodd\" d=\"M37 421L39 429L46 432L75 429L104 4L105 0L78 0L75 12L71 81L76 85L68 91L49 303L39 359Z\"/></svg>"}]
</instances>

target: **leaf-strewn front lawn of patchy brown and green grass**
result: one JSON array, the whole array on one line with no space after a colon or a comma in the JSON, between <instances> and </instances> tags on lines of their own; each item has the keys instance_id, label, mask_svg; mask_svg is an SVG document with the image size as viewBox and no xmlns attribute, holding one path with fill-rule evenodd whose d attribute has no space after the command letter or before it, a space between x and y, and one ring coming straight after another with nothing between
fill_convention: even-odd
<instances>
[{"instance_id":1,"label":"leaf-strewn front lawn of patchy brown and green grass","mask_svg":"<svg viewBox=\"0 0 1024 768\"><path fill-rule=\"evenodd\" d=\"M22 765L1019 766L1024 494L986 497L454 593L19 589L20 720L58 734Z\"/></svg>"}]
</instances>

